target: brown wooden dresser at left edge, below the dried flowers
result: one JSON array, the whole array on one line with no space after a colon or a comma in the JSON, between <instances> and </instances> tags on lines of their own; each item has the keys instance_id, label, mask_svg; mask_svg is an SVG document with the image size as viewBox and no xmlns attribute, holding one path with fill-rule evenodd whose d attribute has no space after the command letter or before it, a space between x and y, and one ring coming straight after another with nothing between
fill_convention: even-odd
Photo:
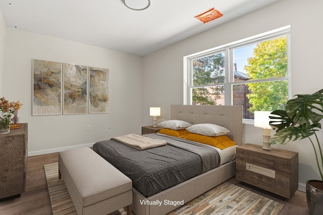
<instances>
[{"instance_id":1,"label":"brown wooden dresser at left edge, below the dried flowers","mask_svg":"<svg viewBox=\"0 0 323 215\"><path fill-rule=\"evenodd\" d=\"M0 134L0 199L26 190L28 124Z\"/></svg>"}]
</instances>

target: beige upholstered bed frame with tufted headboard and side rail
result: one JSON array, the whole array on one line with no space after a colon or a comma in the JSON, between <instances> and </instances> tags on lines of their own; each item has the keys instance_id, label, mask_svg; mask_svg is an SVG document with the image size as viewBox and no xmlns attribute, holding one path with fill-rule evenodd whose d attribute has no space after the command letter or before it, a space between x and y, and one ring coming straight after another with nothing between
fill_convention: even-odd
<instances>
[{"instance_id":1,"label":"beige upholstered bed frame with tufted headboard and side rail","mask_svg":"<svg viewBox=\"0 0 323 215\"><path fill-rule=\"evenodd\" d=\"M242 106L233 105L171 105L171 119L179 119L192 124L213 123L230 130L229 137L242 144ZM184 204L204 192L216 187L236 174L236 162L231 161L218 168L212 169L167 190L145 197L135 188L133 191L132 210L137 215L161 215L171 212L182 205L165 205L164 200L182 201ZM143 204L142 202L163 202L159 205Z\"/></svg>"}]
</instances>

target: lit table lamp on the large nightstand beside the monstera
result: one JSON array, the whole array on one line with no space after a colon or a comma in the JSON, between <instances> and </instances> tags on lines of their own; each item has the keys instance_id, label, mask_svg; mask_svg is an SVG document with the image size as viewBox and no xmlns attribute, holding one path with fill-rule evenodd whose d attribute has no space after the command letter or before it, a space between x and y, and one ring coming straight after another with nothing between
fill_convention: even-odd
<instances>
[{"instance_id":1,"label":"lit table lamp on the large nightstand beside the monstera","mask_svg":"<svg viewBox=\"0 0 323 215\"><path fill-rule=\"evenodd\" d=\"M269 125L271 120L269 116L272 111L255 111L254 112L254 126L262 128L262 149L272 150L270 145L271 130L272 127Z\"/></svg>"}]
</instances>

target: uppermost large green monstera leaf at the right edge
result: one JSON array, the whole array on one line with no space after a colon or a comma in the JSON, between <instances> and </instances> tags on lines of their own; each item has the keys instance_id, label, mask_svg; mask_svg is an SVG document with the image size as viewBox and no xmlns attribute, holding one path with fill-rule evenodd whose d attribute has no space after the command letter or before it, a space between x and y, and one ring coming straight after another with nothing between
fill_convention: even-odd
<instances>
[{"instance_id":1,"label":"uppermost large green monstera leaf at the right edge","mask_svg":"<svg viewBox=\"0 0 323 215\"><path fill-rule=\"evenodd\" d=\"M297 98L289 100L286 104L287 115L301 125L318 123L323 118L323 89L311 95L296 96Z\"/></svg>"}]
</instances>

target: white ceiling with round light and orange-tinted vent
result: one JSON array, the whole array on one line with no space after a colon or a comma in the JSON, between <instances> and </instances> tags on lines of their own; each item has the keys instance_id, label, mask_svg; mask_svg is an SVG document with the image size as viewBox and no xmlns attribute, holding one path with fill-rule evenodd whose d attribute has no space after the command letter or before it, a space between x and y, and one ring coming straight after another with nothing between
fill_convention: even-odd
<instances>
[{"instance_id":1,"label":"white ceiling with round light and orange-tinted vent","mask_svg":"<svg viewBox=\"0 0 323 215\"><path fill-rule=\"evenodd\" d=\"M277 1L151 0L134 11L124 0L0 0L0 10L9 28L143 56ZM223 16L194 18L210 8Z\"/></svg>"}]
</instances>

